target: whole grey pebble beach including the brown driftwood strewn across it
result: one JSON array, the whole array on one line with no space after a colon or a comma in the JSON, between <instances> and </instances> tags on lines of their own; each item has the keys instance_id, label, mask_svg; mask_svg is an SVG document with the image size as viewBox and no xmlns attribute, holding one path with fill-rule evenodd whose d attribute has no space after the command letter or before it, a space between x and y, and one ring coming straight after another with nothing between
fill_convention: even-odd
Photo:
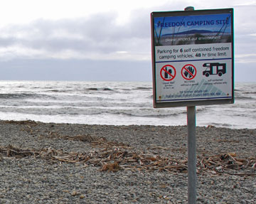
<instances>
[{"instance_id":1,"label":"whole grey pebble beach including the brown driftwood strewn across it","mask_svg":"<svg viewBox=\"0 0 256 204\"><path fill-rule=\"evenodd\" d=\"M0 203L187 203L186 126L0 127ZM197 203L255 203L256 129L196 138Z\"/></svg>"}]
</instances>

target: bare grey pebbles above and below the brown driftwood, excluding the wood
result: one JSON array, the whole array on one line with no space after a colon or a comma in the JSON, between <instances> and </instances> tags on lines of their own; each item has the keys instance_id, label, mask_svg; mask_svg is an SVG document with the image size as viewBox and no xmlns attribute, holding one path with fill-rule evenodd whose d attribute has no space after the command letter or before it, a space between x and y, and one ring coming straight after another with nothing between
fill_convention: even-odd
<instances>
[{"instance_id":1,"label":"bare grey pebbles above and below the brown driftwood, excluding the wood","mask_svg":"<svg viewBox=\"0 0 256 204\"><path fill-rule=\"evenodd\" d=\"M186 127L100 126L0 122L0 146L87 152L90 143L50 137L90 134L129 144L145 154L185 159ZM240 138L240 135L242 137ZM42 137L43 136L43 137ZM255 157L255 129L197 128L198 154L235 152ZM227 143L225 141L240 141ZM221 142L223 141L223 142ZM164 149L155 149L164 146ZM1 155L1 154L0 154ZM50 162L33 156L0 157L0 203L187 203L187 173L166 171L100 171L96 166ZM199 173L197 203L256 203L255 176Z\"/></svg>"}]
</instances>

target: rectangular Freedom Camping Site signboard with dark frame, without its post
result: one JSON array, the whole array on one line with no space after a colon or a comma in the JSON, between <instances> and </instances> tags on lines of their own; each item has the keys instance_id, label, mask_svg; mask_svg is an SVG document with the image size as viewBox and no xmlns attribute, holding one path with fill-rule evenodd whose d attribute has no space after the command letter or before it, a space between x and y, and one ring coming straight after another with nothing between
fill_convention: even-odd
<instances>
[{"instance_id":1,"label":"rectangular Freedom Camping Site signboard with dark frame, without its post","mask_svg":"<svg viewBox=\"0 0 256 204\"><path fill-rule=\"evenodd\" d=\"M233 9L151 13L154 107L233 103Z\"/></svg>"}]
</instances>

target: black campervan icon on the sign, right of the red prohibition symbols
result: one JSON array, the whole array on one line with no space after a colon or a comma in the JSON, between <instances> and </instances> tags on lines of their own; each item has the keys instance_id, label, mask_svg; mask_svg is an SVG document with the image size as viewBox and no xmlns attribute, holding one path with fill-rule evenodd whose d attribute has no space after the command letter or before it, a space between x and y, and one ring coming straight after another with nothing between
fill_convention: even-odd
<instances>
[{"instance_id":1,"label":"black campervan icon on the sign, right of the red prohibition symbols","mask_svg":"<svg viewBox=\"0 0 256 204\"><path fill-rule=\"evenodd\" d=\"M206 77L210 75L222 76L226 73L225 63L204 63L203 67L206 68L206 70L203 71L203 75L205 75Z\"/></svg>"}]
</instances>

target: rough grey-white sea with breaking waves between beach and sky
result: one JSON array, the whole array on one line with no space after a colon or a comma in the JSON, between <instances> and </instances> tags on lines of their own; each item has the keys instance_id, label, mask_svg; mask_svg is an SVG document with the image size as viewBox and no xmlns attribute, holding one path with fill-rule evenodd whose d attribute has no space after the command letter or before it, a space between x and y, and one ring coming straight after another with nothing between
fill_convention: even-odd
<instances>
[{"instance_id":1,"label":"rough grey-white sea with breaking waves between beach and sky","mask_svg":"<svg viewBox=\"0 0 256 204\"><path fill-rule=\"evenodd\" d=\"M0 81L0 119L38 122L187 124L186 107L154 109L152 82ZM196 125L256 128L256 82L235 83L235 103L196 106Z\"/></svg>"}]
</instances>

